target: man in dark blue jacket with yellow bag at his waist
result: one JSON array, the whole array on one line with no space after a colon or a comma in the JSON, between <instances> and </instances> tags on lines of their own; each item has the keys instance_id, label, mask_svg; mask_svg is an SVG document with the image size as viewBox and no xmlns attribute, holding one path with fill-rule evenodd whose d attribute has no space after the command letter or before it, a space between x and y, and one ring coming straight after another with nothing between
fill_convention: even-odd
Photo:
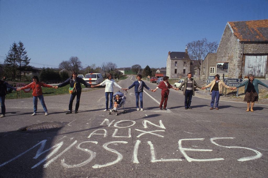
<instances>
[{"instance_id":1,"label":"man in dark blue jacket with yellow bag at his waist","mask_svg":"<svg viewBox=\"0 0 268 178\"><path fill-rule=\"evenodd\" d=\"M88 86L88 87L91 86L84 79L77 77L76 72L73 72L72 77L70 77L69 79L65 80L63 83L61 83L57 86L57 88L58 88L58 87L64 87L64 86L70 84L70 87L74 88L73 92L71 94L70 102L69 102L69 110L66 114L72 113L73 100L75 99L75 96L76 96L75 114L78 112L79 103L80 103L80 96L81 96L81 92L82 92L81 83L84 84L85 86Z\"/></svg>"}]
</instances>

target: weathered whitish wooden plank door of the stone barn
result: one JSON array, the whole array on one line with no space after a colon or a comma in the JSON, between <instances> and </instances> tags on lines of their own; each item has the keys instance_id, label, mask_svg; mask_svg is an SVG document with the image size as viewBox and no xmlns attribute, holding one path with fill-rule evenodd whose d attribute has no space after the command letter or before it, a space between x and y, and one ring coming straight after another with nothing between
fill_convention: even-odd
<instances>
[{"instance_id":1,"label":"weathered whitish wooden plank door of the stone barn","mask_svg":"<svg viewBox=\"0 0 268 178\"><path fill-rule=\"evenodd\" d=\"M245 77L253 74L255 77L265 77L267 55L245 56Z\"/></svg>"}]
</instances>

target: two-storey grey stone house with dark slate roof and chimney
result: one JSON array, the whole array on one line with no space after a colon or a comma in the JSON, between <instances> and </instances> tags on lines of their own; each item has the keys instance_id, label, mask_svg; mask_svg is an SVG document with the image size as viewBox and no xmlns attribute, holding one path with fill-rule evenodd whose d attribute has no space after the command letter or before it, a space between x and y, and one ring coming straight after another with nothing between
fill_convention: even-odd
<instances>
[{"instance_id":1,"label":"two-storey grey stone house with dark slate roof and chimney","mask_svg":"<svg viewBox=\"0 0 268 178\"><path fill-rule=\"evenodd\" d=\"M190 72L190 58L185 52L168 52L166 76L171 79L185 77Z\"/></svg>"}]
</instances>

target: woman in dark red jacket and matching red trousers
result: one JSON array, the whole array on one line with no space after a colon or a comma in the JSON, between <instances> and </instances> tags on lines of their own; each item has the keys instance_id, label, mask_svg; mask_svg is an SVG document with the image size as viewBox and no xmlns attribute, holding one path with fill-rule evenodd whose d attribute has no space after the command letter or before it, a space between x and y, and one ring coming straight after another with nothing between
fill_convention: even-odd
<instances>
[{"instance_id":1,"label":"woman in dark red jacket and matching red trousers","mask_svg":"<svg viewBox=\"0 0 268 178\"><path fill-rule=\"evenodd\" d=\"M169 79L168 76L163 77L163 81L161 81L159 83L158 87L156 87L153 90L153 92L155 92L158 88L162 89L162 91L161 91L162 98L161 98L161 103L159 106L159 108L161 110L162 110L163 103L164 103L164 109L167 110L166 107L167 107L167 103L168 103L169 88L173 88L174 90L179 90L178 88L174 88L172 85L170 85L168 82L168 79Z\"/></svg>"}]
</instances>

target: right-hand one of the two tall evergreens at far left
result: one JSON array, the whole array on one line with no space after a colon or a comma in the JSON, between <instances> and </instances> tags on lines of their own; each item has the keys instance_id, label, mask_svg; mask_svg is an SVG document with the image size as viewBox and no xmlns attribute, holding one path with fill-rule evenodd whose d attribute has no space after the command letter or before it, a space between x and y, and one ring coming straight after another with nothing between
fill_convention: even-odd
<instances>
[{"instance_id":1,"label":"right-hand one of the two tall evergreens at far left","mask_svg":"<svg viewBox=\"0 0 268 178\"><path fill-rule=\"evenodd\" d=\"M18 42L17 51L18 51L18 60L17 60L18 70L20 72L20 81L21 81L21 71L29 64L31 58L30 59L28 58L27 51L25 50L23 42L21 41Z\"/></svg>"}]
</instances>

